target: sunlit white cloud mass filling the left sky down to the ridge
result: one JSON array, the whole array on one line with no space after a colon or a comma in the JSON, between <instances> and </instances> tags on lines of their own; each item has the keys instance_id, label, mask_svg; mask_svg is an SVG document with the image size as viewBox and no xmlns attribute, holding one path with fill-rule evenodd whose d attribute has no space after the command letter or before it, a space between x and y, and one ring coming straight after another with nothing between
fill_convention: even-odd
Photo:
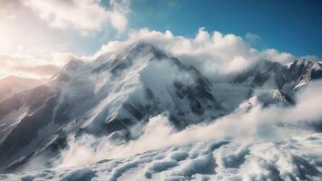
<instances>
[{"instance_id":1,"label":"sunlit white cloud mass filling the left sky down to the ridge","mask_svg":"<svg viewBox=\"0 0 322 181\"><path fill-rule=\"evenodd\" d=\"M51 77L73 56L57 52L96 51L108 38L99 30L125 31L130 11L128 0L109 7L98 0L0 0L0 6L0 78Z\"/></svg>"}]
</instances>

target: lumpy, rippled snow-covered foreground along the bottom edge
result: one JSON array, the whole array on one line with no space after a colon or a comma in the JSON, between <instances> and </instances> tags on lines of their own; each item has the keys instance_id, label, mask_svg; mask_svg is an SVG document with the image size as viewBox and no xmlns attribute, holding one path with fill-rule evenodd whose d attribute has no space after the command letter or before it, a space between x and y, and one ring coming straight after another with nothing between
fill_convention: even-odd
<instances>
[{"instance_id":1,"label":"lumpy, rippled snow-covered foreground along the bottom edge","mask_svg":"<svg viewBox=\"0 0 322 181\"><path fill-rule=\"evenodd\" d=\"M322 134L269 141L236 138L147 151L86 167L45 169L0 180L321 180Z\"/></svg>"}]
</instances>

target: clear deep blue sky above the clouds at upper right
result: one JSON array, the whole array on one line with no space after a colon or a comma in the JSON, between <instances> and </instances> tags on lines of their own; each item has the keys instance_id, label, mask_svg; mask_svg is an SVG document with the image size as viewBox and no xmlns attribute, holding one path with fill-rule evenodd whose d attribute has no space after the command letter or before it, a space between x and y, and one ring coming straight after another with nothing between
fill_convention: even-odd
<instances>
[{"instance_id":1,"label":"clear deep blue sky above the clouds at upper right","mask_svg":"<svg viewBox=\"0 0 322 181\"><path fill-rule=\"evenodd\" d=\"M254 33L261 37L258 49L322 57L320 0L134 0L131 11L131 28L192 37L200 27L242 37Z\"/></svg>"}]
</instances>

